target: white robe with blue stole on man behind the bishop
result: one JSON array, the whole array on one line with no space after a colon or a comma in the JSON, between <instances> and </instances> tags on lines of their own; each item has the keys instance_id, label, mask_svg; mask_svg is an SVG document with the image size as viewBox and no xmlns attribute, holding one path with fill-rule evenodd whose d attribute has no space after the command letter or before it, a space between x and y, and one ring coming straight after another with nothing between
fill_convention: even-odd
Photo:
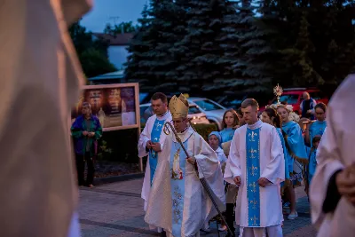
<instances>
[{"instance_id":1,"label":"white robe with blue stole on man behind the bishop","mask_svg":"<svg viewBox=\"0 0 355 237\"><path fill-rule=\"evenodd\" d=\"M154 152L154 150L146 150L146 143L150 140L152 142L159 142L161 144L161 149L163 150L166 135L163 132L164 123L171 122L170 111L167 111L164 115L157 116L153 115L146 121L146 127L140 134L138 140L138 156L140 158L148 155L148 160L146 161L146 173L143 180L142 194L141 197L145 201L144 209L146 210L146 205L148 203L150 188L152 186L154 172L158 163L158 156L161 152Z\"/></svg>"}]
</instances>

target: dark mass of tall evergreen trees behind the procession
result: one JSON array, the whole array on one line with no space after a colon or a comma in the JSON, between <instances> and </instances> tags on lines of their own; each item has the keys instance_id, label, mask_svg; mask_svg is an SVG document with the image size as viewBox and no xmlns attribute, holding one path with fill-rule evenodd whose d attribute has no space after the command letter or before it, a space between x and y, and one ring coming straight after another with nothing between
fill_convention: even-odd
<instances>
[{"instance_id":1,"label":"dark mass of tall evergreen trees behind the procession","mask_svg":"<svg viewBox=\"0 0 355 237\"><path fill-rule=\"evenodd\" d=\"M152 0L125 75L194 95L334 87L355 64L354 12L345 0Z\"/></svg>"}]
</instances>

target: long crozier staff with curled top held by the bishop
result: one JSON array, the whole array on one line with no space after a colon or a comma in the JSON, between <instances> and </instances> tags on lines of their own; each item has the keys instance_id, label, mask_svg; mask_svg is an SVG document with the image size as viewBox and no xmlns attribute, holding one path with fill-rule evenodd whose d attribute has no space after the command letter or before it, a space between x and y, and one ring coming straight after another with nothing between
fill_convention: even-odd
<instances>
[{"instance_id":1,"label":"long crozier staff with curled top held by the bishop","mask_svg":"<svg viewBox=\"0 0 355 237\"><path fill-rule=\"evenodd\" d=\"M190 125L191 125L191 123L190 123ZM193 126L192 126L192 128L193 128ZM173 126L170 122L165 122L163 131L164 131L164 133L165 133L166 135L169 135L169 134L170 134L170 129L171 129L172 132L174 133L174 136L175 136L175 138L177 139L177 142L180 144L181 148L183 148L186 157L190 157L190 155L187 153L187 151L186 151L186 149L185 149L185 146L184 146L183 142L181 141L181 138L178 137L177 131L174 129L174 126ZM193 128L193 130L194 130L194 128ZM195 131L196 131L196 130L195 130ZM209 187L209 184L207 183L207 181L206 181L205 178L200 178L200 176L199 176L199 171L198 171L198 168L197 168L197 162L195 162L194 165L193 165L193 164L191 164L191 165L193 166L193 170L196 172L197 178L200 179L201 185L202 185L203 188L205 189L206 193L209 195L209 199L212 201L213 206L215 207L215 209L217 209L217 212L218 212L219 217L221 217L221 219L224 221L225 225L227 226L228 232L233 235L231 229L229 228L229 226L228 226L228 225L226 224L226 222L225 222L225 217L223 217L221 210L218 208L217 202L215 201L214 194L213 194L213 192L211 191L211 189L210 189L210 187ZM219 236L219 233L218 233L218 236Z\"/></svg>"}]
</instances>

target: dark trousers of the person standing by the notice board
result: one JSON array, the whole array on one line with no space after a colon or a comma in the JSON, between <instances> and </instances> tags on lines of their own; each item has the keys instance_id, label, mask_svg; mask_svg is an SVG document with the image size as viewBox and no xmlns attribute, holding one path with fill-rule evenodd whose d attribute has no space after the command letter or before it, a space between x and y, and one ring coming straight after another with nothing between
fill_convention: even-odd
<instances>
[{"instance_id":1,"label":"dark trousers of the person standing by the notice board","mask_svg":"<svg viewBox=\"0 0 355 237\"><path fill-rule=\"evenodd\" d=\"M85 154L76 154L76 171L78 176L78 185L79 186L90 186L94 181L94 162L92 161L92 157L90 152L86 152ZM88 174L86 177L86 182L84 180L84 170L85 170L85 162L88 166Z\"/></svg>"}]
</instances>

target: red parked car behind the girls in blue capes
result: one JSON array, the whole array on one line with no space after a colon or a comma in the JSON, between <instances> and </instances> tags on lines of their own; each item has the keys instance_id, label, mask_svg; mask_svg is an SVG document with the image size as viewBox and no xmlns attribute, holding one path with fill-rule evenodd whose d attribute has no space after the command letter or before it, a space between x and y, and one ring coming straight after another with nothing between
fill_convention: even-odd
<instances>
[{"instance_id":1,"label":"red parked car behind the girls in blue capes","mask_svg":"<svg viewBox=\"0 0 355 237\"><path fill-rule=\"evenodd\" d=\"M318 89L307 89L307 88L288 88L284 89L282 95L280 96L280 102L287 102L288 105L291 105L294 107L294 111L297 115L301 115L301 109L300 109L300 104L304 100L302 95L304 94L304 91L307 91L312 99L315 99L317 103L323 102L327 105L327 102L329 99ZM269 101L270 104L276 104L277 103L277 98L275 97L271 101ZM265 107L262 107L260 109L260 112L263 112Z\"/></svg>"}]
</instances>

